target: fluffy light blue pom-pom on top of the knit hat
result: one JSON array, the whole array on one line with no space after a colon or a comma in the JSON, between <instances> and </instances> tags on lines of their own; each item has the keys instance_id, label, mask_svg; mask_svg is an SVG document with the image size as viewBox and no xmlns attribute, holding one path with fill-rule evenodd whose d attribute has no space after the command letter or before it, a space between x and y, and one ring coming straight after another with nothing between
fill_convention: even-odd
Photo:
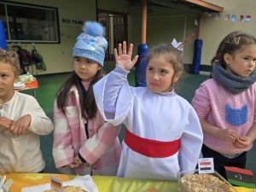
<instances>
[{"instance_id":1,"label":"fluffy light blue pom-pom on top of the knit hat","mask_svg":"<svg viewBox=\"0 0 256 192\"><path fill-rule=\"evenodd\" d=\"M94 37L103 35L103 27L96 21L85 22L83 31Z\"/></svg>"}]
</instances>

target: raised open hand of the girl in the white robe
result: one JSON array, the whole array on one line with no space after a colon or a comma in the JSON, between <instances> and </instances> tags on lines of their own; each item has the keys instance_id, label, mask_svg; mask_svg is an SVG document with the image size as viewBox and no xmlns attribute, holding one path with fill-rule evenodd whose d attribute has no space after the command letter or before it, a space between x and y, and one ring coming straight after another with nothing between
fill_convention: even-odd
<instances>
[{"instance_id":1,"label":"raised open hand of the girl in the white robe","mask_svg":"<svg viewBox=\"0 0 256 192\"><path fill-rule=\"evenodd\" d=\"M122 44L119 44L119 52L117 51L117 49L113 49L116 63L119 65L119 67L122 67L126 71L130 71L130 69L137 62L138 55L136 55L133 58L133 60L131 60L132 49L133 49L133 44L130 44L128 54L127 54L125 41L123 42L123 49L122 49Z\"/></svg>"}]
</instances>

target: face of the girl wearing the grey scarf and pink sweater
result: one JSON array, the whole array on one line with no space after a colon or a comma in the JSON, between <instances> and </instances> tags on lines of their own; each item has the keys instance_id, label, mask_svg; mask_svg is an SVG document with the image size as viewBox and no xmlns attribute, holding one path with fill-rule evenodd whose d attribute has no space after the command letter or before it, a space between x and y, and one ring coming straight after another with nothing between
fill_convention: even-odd
<instances>
[{"instance_id":1,"label":"face of the girl wearing the grey scarf and pink sweater","mask_svg":"<svg viewBox=\"0 0 256 192\"><path fill-rule=\"evenodd\" d=\"M246 78L253 73L255 68L256 45L246 46L234 55L225 54L224 61L228 71Z\"/></svg>"}]
</instances>

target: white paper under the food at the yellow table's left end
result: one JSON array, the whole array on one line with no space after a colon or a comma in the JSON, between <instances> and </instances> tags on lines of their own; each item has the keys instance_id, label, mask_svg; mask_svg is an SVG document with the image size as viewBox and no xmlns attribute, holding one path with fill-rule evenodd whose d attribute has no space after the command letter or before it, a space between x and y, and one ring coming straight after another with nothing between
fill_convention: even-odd
<instances>
[{"instance_id":1,"label":"white paper under the food at the yellow table's left end","mask_svg":"<svg viewBox=\"0 0 256 192\"><path fill-rule=\"evenodd\" d=\"M90 175L75 177L73 180L63 182L63 186L67 185L80 186L82 189L87 190L88 192L99 192L96 183L94 183ZM50 189L49 183L22 188L21 192L44 192L44 190L47 189Z\"/></svg>"}]
</instances>

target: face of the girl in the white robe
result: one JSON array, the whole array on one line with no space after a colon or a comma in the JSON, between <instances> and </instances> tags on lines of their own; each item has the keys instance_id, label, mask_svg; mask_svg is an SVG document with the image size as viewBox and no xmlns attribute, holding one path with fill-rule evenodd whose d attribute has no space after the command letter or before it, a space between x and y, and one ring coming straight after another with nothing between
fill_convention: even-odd
<instances>
[{"instance_id":1,"label":"face of the girl in the white robe","mask_svg":"<svg viewBox=\"0 0 256 192\"><path fill-rule=\"evenodd\" d=\"M177 82L179 77L180 73L175 74L172 63L167 62L165 56L152 57L148 61L146 82L150 91L170 92L172 84Z\"/></svg>"}]
</instances>

